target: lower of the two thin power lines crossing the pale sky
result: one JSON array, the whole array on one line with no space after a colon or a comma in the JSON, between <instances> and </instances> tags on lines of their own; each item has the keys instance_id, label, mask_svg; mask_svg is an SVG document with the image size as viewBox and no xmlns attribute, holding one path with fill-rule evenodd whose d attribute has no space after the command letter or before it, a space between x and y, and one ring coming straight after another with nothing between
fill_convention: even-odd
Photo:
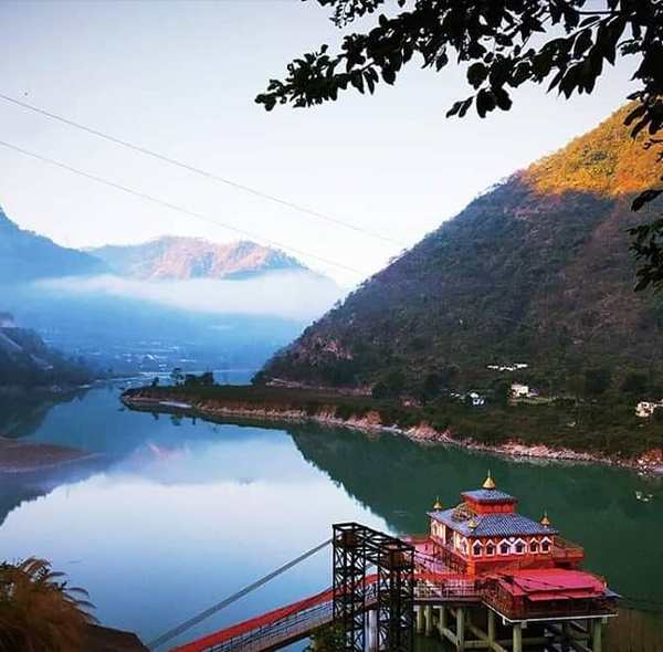
<instances>
[{"instance_id":1,"label":"lower of the two thin power lines crossing the pale sky","mask_svg":"<svg viewBox=\"0 0 663 652\"><path fill-rule=\"evenodd\" d=\"M296 253L297 255L301 256L305 256L308 259L313 259L316 260L318 262L322 263L326 263L328 265L334 265L335 267L339 267L341 270L346 270L348 272L352 272L355 274L359 274L360 276L368 276L369 273L362 270L357 270L356 267L350 267L349 265L344 265L343 263L337 263L335 261L330 261L329 259L325 259L323 256L313 254L313 253L308 253L306 251L303 251L301 249L295 249L294 246L291 246L290 244L284 244L282 242L277 242L275 240L270 240L267 238L264 238L262 235L259 235L257 233L252 233L251 231L245 231L244 229L238 229L236 227L233 227L231 224L228 224L225 222L220 222L219 220L214 220L213 218L210 218L208 215L204 215L202 213L198 213L191 210L188 210L186 208L182 208L181 206L177 206L175 203L170 203L169 201L165 201L164 199L159 199L158 197L154 197L151 194L147 194L145 192L140 192L139 190L134 190L133 188L128 188L127 186L122 186L120 183L116 183L115 181L108 181L107 179L104 179L102 177L97 177L96 175L91 175L90 172L84 172L83 170L78 170L77 168L72 168L71 166L67 166L65 164L62 164L60 161L56 161L52 158L46 158L45 156L41 156L40 154L35 154L33 151L29 151L28 149L23 149L22 147L19 147L18 145L12 145L11 143L7 143L4 140L0 140L0 145L2 145L3 147L7 147L8 149L13 149L14 151L19 151L25 156L30 156L31 158L34 158L36 160L41 160L42 162L46 162L49 165L62 168L63 170L67 170L70 172L73 172L74 175L78 175L80 177L84 177L86 179L92 179L93 181L96 181L97 183L102 183L104 186L108 186L109 188L114 188L116 190L122 190L123 192L127 192L128 194L133 194L135 197L139 197L140 199L145 199L146 201L151 201L152 203L169 208L171 210L178 211L180 213L183 213L186 215L190 215L192 218L197 218L198 220L202 220L203 222L209 222L211 224L217 224L218 227L223 227L224 229L228 229L230 231L234 231L235 233L239 233L240 235L244 235L246 238L251 238L252 240L262 240L263 242L266 242L267 244L278 248L278 249L283 249L286 251L291 251L293 253Z\"/></svg>"}]
</instances>

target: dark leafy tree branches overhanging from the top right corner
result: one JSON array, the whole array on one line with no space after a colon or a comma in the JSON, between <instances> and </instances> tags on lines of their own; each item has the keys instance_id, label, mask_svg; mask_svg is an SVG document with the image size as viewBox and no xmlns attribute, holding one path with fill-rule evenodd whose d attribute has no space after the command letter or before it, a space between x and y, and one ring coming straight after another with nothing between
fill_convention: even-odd
<instances>
[{"instance_id":1,"label":"dark leafy tree branches overhanging from the top right corner","mask_svg":"<svg viewBox=\"0 0 663 652\"><path fill-rule=\"evenodd\" d=\"M663 162L663 2L661 0L317 0L332 10L338 28L380 9L375 27L347 34L340 50L328 45L296 59L284 80L271 80L256 97L267 111L277 104L308 107L336 101L354 88L373 93L394 84L413 62L442 71L450 61L467 66L471 94L449 109L481 117L512 106L523 84L546 84L567 98L591 93L606 64L618 57L639 60L639 88L625 124L644 147L657 147ZM663 177L661 177L663 181ZM651 188L633 200L633 210L655 200ZM663 290L663 217L630 229L640 262L638 290Z\"/></svg>"}]
</instances>

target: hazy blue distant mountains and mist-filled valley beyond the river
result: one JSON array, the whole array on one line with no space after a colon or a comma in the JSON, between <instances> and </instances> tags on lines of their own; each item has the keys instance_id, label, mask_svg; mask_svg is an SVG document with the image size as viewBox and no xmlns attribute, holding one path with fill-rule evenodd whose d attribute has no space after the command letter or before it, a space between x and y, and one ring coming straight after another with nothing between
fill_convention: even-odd
<instances>
[{"instance_id":1,"label":"hazy blue distant mountains and mist-filled valley beyond the river","mask_svg":"<svg viewBox=\"0 0 663 652\"><path fill-rule=\"evenodd\" d=\"M103 376L257 369L345 294L246 241L165 238L104 248L102 260L20 230L1 209L0 230L2 309Z\"/></svg>"}]
</instances>

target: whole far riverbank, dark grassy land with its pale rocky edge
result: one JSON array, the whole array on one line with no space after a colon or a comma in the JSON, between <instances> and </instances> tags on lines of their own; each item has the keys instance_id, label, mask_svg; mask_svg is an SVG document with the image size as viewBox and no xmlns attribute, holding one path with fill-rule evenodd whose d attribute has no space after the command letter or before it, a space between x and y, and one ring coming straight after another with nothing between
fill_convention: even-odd
<instances>
[{"instance_id":1,"label":"whole far riverbank, dark grassy land with its pale rocky edge","mask_svg":"<svg viewBox=\"0 0 663 652\"><path fill-rule=\"evenodd\" d=\"M388 431L420 443L457 445L513 458L601 462L641 473L663 474L663 435L657 431L646 437L640 433L638 442L630 442L638 445L631 445L630 450L610 452L614 440L621 442L624 433L607 433L604 430L597 433L579 427L577 416L572 427L568 425L570 421L566 421L566 429L573 430L576 437L564 431L564 437L560 437L558 432L524 428L529 425L533 410L535 420L540 423L541 410L546 410L541 407L486 408L480 411L459 404L402 406L326 390L239 386L139 388L124 392L122 401L136 409L179 410L221 420L312 420L324 425L365 432ZM556 417L557 422L560 417L561 422L567 418L564 413L556 413ZM509 425L508 435L506 424ZM607 438L613 440L609 445L592 445Z\"/></svg>"}]
</instances>

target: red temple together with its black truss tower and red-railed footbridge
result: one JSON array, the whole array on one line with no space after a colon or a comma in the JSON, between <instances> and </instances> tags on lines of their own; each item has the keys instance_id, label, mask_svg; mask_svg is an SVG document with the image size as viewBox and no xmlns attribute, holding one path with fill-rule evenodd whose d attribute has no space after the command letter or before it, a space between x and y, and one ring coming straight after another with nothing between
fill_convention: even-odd
<instances>
[{"instance_id":1,"label":"red temple together with its black truss tower and red-railed footbridge","mask_svg":"<svg viewBox=\"0 0 663 652\"><path fill-rule=\"evenodd\" d=\"M450 509L436 501L424 536L334 524L329 590L171 652L273 652L329 624L341 635L339 651L412 652L414 620L419 633L438 633L456 652L602 652L618 596L579 568L585 550L562 539L547 514L540 520L518 514L518 499L490 473L462 498Z\"/></svg>"}]
</instances>

